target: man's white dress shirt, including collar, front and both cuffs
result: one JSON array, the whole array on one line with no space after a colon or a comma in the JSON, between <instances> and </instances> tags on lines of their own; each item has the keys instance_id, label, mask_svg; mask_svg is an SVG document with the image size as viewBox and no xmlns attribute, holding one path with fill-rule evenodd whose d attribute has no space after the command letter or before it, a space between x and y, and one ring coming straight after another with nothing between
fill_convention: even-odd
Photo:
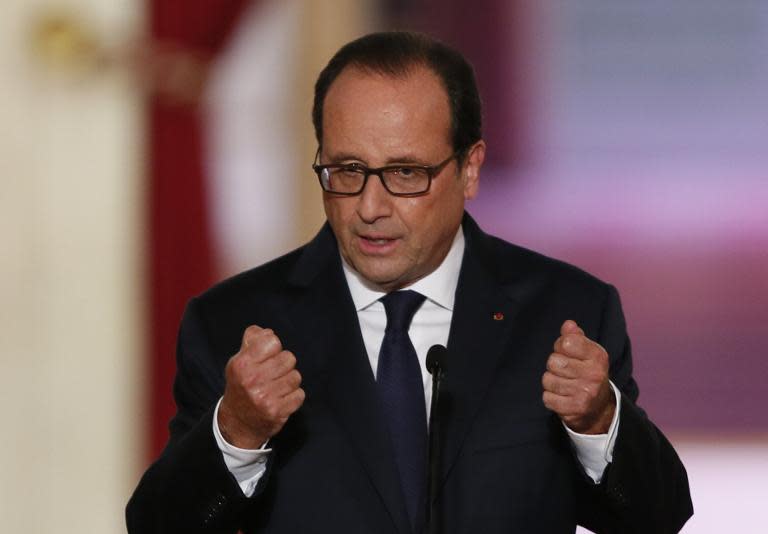
<instances>
[{"instance_id":1,"label":"man's white dress shirt, including collar, front and both cuffs","mask_svg":"<svg viewBox=\"0 0 768 534\"><path fill-rule=\"evenodd\" d=\"M419 358L427 413L429 413L432 396L432 375L426 369L427 351L432 345L445 346L448 344L456 286L459 281L463 256L464 232L459 228L451 249L440 266L429 275L408 286L408 289L417 291L426 297L424 303L413 316L408 335ZM379 299L386 293L372 286L343 260L342 264L352 301L357 310L371 371L376 376L379 349L387 326L384 304ZM577 434L566 427L576 457L595 483L600 482L605 467L611 462L613 446L616 441L621 396L613 383L611 383L611 387L616 395L616 412L607 434ZM219 400L220 403L221 400ZM227 468L237 480L243 493L250 497L264 474L266 460L271 449L264 447L259 450L239 449L227 443L222 437L217 423L219 404L216 405L214 412L213 433L219 449L224 455Z\"/></svg>"}]
</instances>

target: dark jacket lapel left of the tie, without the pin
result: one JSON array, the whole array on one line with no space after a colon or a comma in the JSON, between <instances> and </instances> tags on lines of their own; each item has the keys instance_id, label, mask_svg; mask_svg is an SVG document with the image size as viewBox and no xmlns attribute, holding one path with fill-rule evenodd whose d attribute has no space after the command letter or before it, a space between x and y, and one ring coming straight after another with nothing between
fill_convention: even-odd
<instances>
[{"instance_id":1,"label":"dark jacket lapel left of the tie, without the pin","mask_svg":"<svg viewBox=\"0 0 768 534\"><path fill-rule=\"evenodd\" d=\"M407 533L410 526L375 378L328 225L299 260L291 283L302 296L293 299L289 317L303 320L296 331L322 376L320 400L346 433L397 531Z\"/></svg>"}]
</instances>

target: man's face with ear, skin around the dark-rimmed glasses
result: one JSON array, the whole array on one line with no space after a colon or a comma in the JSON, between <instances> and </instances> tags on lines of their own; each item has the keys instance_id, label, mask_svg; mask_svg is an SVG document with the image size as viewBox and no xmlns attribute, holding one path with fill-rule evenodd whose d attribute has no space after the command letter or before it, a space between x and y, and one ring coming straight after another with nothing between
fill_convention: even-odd
<instances>
[{"instance_id":1,"label":"man's face with ear, skin around the dark-rimmed glasses","mask_svg":"<svg viewBox=\"0 0 768 534\"><path fill-rule=\"evenodd\" d=\"M322 163L431 166L452 152L448 95L427 68L390 77L348 67L325 97ZM347 263L386 291L434 271L461 224L464 201L477 193L484 154L479 141L461 167L452 160L418 197L392 196L373 175L358 196L324 193Z\"/></svg>"}]
</instances>

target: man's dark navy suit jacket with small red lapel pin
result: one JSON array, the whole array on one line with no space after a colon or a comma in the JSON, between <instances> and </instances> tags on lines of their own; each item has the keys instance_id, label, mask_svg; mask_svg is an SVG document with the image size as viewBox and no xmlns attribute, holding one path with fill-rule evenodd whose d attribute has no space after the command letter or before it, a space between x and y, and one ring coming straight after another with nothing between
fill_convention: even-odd
<instances>
[{"instance_id":1,"label":"man's dark navy suit jacket with small red lapel pin","mask_svg":"<svg viewBox=\"0 0 768 534\"><path fill-rule=\"evenodd\" d=\"M634 404L615 289L484 234L467 215L442 404L445 533L677 532L692 513L675 451ZM610 355L622 391L613 462L595 485L541 376L565 319ZM272 440L256 494L227 471L211 430L224 366L251 324L293 351L306 401ZM406 534L409 523L357 315L331 229L193 299L182 321L178 413L127 508L130 532Z\"/></svg>"}]
</instances>

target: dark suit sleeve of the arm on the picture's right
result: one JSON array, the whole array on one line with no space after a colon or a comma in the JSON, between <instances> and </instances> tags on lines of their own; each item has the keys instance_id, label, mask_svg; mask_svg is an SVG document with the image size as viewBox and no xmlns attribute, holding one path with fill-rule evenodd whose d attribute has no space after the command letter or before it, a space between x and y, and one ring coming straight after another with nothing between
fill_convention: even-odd
<instances>
[{"instance_id":1,"label":"dark suit sleeve of the arm on the picture's right","mask_svg":"<svg viewBox=\"0 0 768 534\"><path fill-rule=\"evenodd\" d=\"M621 421L599 485L585 481L580 523L595 532L678 532L693 513L688 478L672 445L635 404L629 338L618 294L612 286L597 341L611 358L611 379L622 392Z\"/></svg>"}]
</instances>

